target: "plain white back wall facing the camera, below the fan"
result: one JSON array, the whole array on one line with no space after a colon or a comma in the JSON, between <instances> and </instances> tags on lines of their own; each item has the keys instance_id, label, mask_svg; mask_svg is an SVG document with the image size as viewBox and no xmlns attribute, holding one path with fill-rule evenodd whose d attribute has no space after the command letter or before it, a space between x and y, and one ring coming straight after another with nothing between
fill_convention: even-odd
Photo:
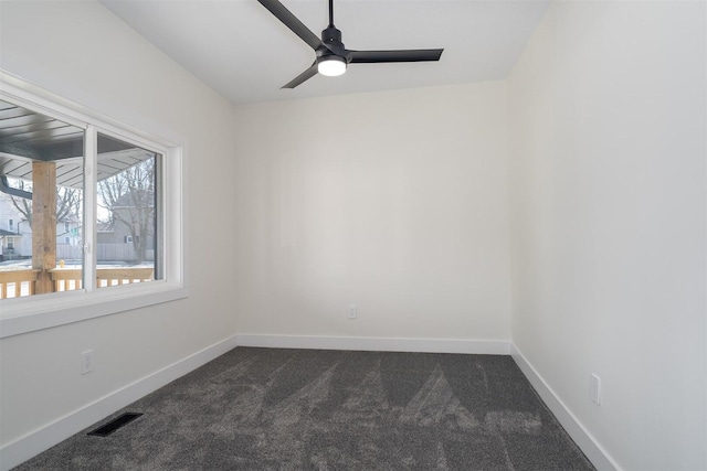
<instances>
[{"instance_id":1,"label":"plain white back wall facing the camera, below the fan","mask_svg":"<svg viewBox=\"0 0 707 471\"><path fill-rule=\"evenodd\" d=\"M235 129L240 333L509 339L505 82L242 106Z\"/></svg>"}]
</instances>

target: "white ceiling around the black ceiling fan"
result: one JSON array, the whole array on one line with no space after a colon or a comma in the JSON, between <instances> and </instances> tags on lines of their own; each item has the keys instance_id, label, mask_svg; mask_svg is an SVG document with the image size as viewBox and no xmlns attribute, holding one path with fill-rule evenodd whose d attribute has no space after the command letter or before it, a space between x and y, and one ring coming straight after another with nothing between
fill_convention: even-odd
<instances>
[{"instance_id":1,"label":"white ceiling around the black ceiling fan","mask_svg":"<svg viewBox=\"0 0 707 471\"><path fill-rule=\"evenodd\" d=\"M317 36L327 0L281 0ZM281 89L314 51L256 0L101 0L175 61L234 104L503 78L549 0L335 0L351 50L443 47L440 62L352 64Z\"/></svg>"}]
</instances>

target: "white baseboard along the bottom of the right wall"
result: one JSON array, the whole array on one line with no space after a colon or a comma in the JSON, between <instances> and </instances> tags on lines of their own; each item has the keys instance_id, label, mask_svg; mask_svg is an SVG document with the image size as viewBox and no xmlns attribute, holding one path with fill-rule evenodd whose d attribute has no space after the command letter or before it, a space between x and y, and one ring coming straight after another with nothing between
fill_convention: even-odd
<instances>
[{"instance_id":1,"label":"white baseboard along the bottom of the right wall","mask_svg":"<svg viewBox=\"0 0 707 471\"><path fill-rule=\"evenodd\" d=\"M574 417L574 414L567 408L564 403L555 394L552 388L542 379L542 376L532 367L515 344L510 345L510 355L532 387L538 392L542 402L552 414L555 414L555 417L557 417L564 430L572 437L572 440L574 440L577 446L584 452L587 458L589 458L589 461L591 461L599 471L621 471L619 464L609 456L606 450L597 442L594 437L592 437L577 417Z\"/></svg>"}]
</instances>

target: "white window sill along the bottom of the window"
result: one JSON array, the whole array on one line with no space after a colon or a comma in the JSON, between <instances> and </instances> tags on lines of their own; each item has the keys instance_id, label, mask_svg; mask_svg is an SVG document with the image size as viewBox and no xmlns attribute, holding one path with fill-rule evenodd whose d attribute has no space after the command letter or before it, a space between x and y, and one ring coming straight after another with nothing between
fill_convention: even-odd
<instances>
[{"instance_id":1,"label":"white window sill along the bottom of the window","mask_svg":"<svg viewBox=\"0 0 707 471\"><path fill-rule=\"evenodd\" d=\"M117 288L117 287L116 287ZM2 300L0 339L55 328L133 309L183 299L187 288L150 281L119 289L101 288Z\"/></svg>"}]
</instances>

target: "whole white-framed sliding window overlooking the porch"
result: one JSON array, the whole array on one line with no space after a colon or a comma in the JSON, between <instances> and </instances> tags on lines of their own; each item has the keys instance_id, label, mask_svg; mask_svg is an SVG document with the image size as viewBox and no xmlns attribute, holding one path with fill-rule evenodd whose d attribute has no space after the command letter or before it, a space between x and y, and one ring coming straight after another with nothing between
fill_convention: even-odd
<instances>
[{"instance_id":1,"label":"whole white-framed sliding window overlooking the porch","mask_svg":"<svg viewBox=\"0 0 707 471\"><path fill-rule=\"evenodd\" d=\"M0 336L186 297L181 148L0 79Z\"/></svg>"}]
</instances>

